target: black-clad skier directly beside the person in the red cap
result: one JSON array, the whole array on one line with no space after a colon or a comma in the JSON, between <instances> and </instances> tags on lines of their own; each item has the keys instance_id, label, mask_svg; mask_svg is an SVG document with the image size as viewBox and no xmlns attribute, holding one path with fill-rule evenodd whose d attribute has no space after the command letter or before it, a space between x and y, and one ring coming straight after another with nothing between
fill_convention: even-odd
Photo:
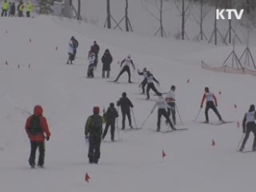
<instances>
[{"instance_id":1,"label":"black-clad skier directly beside the person in the red cap","mask_svg":"<svg viewBox=\"0 0 256 192\"><path fill-rule=\"evenodd\" d=\"M103 115L103 117L106 118L106 126L102 134L102 139L106 137L107 130L110 126L111 141L114 142L114 122L115 118L118 117L118 111L114 108L113 102L110 103L110 107L106 110L106 113Z\"/></svg>"}]
</instances>

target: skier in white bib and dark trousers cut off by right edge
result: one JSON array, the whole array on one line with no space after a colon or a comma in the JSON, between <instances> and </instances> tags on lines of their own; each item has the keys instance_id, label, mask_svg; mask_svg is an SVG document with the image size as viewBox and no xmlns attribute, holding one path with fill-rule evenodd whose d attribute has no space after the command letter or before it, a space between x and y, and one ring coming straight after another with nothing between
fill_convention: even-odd
<instances>
[{"instance_id":1,"label":"skier in white bib and dark trousers cut off by right edge","mask_svg":"<svg viewBox=\"0 0 256 192\"><path fill-rule=\"evenodd\" d=\"M245 138L242 141L242 146L240 147L240 151L244 150L246 146L247 139L249 138L250 132L252 131L254 133L254 143L252 150L256 150L256 112L255 112L255 106L250 105L249 111L245 114L243 120L242 120L242 132L246 134Z\"/></svg>"}]
</instances>

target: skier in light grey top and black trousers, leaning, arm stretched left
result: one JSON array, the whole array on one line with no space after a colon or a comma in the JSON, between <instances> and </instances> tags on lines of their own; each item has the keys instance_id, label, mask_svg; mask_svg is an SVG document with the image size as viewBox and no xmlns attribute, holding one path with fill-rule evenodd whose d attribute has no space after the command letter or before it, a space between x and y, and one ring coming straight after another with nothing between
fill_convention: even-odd
<instances>
[{"instance_id":1,"label":"skier in light grey top and black trousers, leaning, arm stretched left","mask_svg":"<svg viewBox=\"0 0 256 192\"><path fill-rule=\"evenodd\" d=\"M153 109L151 110L151 114L154 112L154 108L158 106L158 129L157 131L160 131L161 126L161 117L162 115L166 118L166 122L170 124L170 128L172 130L176 130L173 123L170 121L170 117L167 114L166 108L170 108L169 105L166 103L166 99L162 97L162 94L158 93L159 99L155 102Z\"/></svg>"}]
</instances>

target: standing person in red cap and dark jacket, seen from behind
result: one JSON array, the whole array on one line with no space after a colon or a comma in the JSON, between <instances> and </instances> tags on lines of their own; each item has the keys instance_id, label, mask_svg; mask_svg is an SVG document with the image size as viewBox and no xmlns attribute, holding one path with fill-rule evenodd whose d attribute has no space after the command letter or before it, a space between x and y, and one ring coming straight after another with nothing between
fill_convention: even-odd
<instances>
[{"instance_id":1,"label":"standing person in red cap and dark jacket, seen from behind","mask_svg":"<svg viewBox=\"0 0 256 192\"><path fill-rule=\"evenodd\" d=\"M94 114L86 121L85 138L89 138L88 158L90 163L98 163L101 156L102 123L103 118L99 115L99 107L94 106Z\"/></svg>"}]
</instances>

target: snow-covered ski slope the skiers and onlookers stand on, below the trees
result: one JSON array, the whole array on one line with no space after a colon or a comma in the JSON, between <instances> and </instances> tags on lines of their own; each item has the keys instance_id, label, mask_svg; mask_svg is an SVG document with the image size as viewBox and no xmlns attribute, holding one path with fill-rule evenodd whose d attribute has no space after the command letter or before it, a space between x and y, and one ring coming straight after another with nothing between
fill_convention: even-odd
<instances>
[{"instance_id":1,"label":"snow-covered ski slope the skiers and onlookers stand on, below the trees","mask_svg":"<svg viewBox=\"0 0 256 192\"><path fill-rule=\"evenodd\" d=\"M236 122L241 124L243 114L254 103L255 93L251 88L254 78L213 73L199 65L202 58L222 63L222 56L225 58L230 51L226 46L150 38L43 16L6 18L1 19L1 24L0 186L3 191L254 189L255 154L235 151L242 136ZM72 35L78 38L80 46L74 66L67 66L67 43ZM99 62L96 78L85 78L86 55L94 39L101 46L100 57L106 48L114 56L111 78L118 74L118 61L131 54L138 69L146 66L154 73L161 82L161 91L176 85L178 110L184 126L190 130L170 134L150 131L156 129L154 111L142 130L116 131L116 138L122 138L122 142L103 142L99 164L90 165L83 130L93 106L107 107L126 91L134 103L134 115L140 126L154 105L141 99L145 95L138 94L142 78L137 75L132 75L134 84L126 83L126 75L120 78L123 83L106 82L100 78ZM210 126L193 122L205 86L218 97L222 117L234 123ZM152 93L151 98L155 99ZM27 162L30 143L24 124L36 104L43 106L52 133L46 142L43 170L31 170ZM234 108L234 104L238 107ZM198 120L204 120L203 110ZM212 112L210 120L217 121ZM120 118L118 122L120 127ZM182 127L179 121L178 127ZM162 123L162 130L166 129ZM107 134L106 139L109 137ZM212 139L215 146L211 146ZM251 144L252 138L247 150ZM166 158L162 158L162 150ZM86 173L90 174L90 183L84 181Z\"/></svg>"}]
</instances>

